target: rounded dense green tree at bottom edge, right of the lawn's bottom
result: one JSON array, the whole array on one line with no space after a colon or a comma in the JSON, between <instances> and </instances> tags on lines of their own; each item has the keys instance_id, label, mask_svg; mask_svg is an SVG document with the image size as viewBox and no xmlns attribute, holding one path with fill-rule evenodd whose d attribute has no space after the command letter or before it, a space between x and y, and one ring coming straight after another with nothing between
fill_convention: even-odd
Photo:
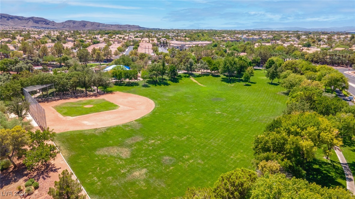
<instances>
[{"instance_id":1,"label":"rounded dense green tree at bottom edge, right of the lawn's bottom","mask_svg":"<svg viewBox=\"0 0 355 199\"><path fill-rule=\"evenodd\" d=\"M250 198L253 183L256 181L255 171L235 169L219 176L213 185L216 198Z\"/></svg>"}]
</instances>

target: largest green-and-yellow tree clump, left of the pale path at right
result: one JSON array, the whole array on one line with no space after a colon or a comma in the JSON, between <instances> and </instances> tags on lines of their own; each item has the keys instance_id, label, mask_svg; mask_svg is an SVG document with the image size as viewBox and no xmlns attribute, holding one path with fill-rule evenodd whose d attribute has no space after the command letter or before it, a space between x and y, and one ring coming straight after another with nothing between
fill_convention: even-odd
<instances>
[{"instance_id":1,"label":"largest green-and-yellow tree clump, left of the pale path at right","mask_svg":"<svg viewBox=\"0 0 355 199\"><path fill-rule=\"evenodd\" d=\"M266 126L254 141L254 163L274 160L296 177L304 177L304 169L322 149L329 157L334 146L342 144L339 132L329 120L317 113L282 115Z\"/></svg>"}]
</instances>

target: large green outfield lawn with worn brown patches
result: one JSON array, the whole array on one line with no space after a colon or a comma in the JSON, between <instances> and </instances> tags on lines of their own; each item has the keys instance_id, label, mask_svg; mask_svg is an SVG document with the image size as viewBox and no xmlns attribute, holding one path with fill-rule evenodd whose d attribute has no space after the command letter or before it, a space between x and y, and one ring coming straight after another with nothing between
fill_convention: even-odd
<instances>
[{"instance_id":1,"label":"large green outfield lawn with worn brown patches","mask_svg":"<svg viewBox=\"0 0 355 199\"><path fill-rule=\"evenodd\" d=\"M131 123L58 133L56 144L91 198L171 198L211 187L236 167L253 169L252 141L282 114L287 96L262 70L252 83L183 77L149 87L114 86L155 109Z\"/></svg>"}]
</instances>

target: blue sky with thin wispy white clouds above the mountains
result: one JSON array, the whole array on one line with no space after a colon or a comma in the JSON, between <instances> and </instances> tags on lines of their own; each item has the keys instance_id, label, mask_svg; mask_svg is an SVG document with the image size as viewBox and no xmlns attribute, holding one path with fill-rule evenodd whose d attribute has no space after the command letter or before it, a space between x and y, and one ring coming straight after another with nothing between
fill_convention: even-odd
<instances>
[{"instance_id":1,"label":"blue sky with thin wispy white clouds above the mountains","mask_svg":"<svg viewBox=\"0 0 355 199\"><path fill-rule=\"evenodd\" d=\"M355 26L355 1L3 1L0 12L55 22L86 20L148 28L249 29Z\"/></svg>"}]
</instances>

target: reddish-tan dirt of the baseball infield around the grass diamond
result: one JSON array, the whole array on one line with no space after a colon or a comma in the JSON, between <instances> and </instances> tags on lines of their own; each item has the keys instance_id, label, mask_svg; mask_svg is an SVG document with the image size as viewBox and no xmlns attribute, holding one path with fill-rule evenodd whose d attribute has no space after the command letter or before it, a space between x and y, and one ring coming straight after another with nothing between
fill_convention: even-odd
<instances>
[{"instance_id":1,"label":"reddish-tan dirt of the baseball infield around the grass diamond","mask_svg":"<svg viewBox=\"0 0 355 199\"><path fill-rule=\"evenodd\" d=\"M84 99L106 99L120 106L118 109L80 116L62 116L53 106L65 102L75 102ZM107 126L124 124L150 113L154 102L143 96L130 93L114 92L99 96L62 99L58 101L43 102L40 105L45 109L47 126L55 132L96 129Z\"/></svg>"}]
</instances>

